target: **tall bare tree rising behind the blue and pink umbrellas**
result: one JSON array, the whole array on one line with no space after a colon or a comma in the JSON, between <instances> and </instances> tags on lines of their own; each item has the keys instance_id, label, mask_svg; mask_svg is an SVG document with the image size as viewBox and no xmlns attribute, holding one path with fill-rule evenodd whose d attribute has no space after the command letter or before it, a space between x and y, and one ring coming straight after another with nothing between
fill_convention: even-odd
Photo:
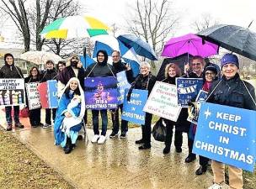
<instances>
[{"instance_id":1,"label":"tall bare tree rising behind the blue and pink umbrellas","mask_svg":"<svg viewBox=\"0 0 256 189\"><path fill-rule=\"evenodd\" d=\"M136 7L129 14L134 16L126 19L129 32L146 39L159 55L164 41L179 21L179 17L172 13L168 0L136 0Z\"/></svg>"}]
</instances>

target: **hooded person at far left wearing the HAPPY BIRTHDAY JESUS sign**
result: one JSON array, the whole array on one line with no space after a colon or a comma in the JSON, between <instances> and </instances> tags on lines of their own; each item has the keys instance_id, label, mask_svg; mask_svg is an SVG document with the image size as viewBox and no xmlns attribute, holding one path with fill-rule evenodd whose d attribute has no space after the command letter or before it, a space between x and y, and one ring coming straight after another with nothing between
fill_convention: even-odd
<instances>
[{"instance_id":1,"label":"hooded person at far left wearing the HAPPY BIRTHDAY JESUS sign","mask_svg":"<svg viewBox=\"0 0 256 189\"><path fill-rule=\"evenodd\" d=\"M4 55L4 66L0 70L0 78L24 78L20 68L14 65L14 57L7 53ZM24 128L24 125L19 122L19 106L13 106L15 127ZM5 107L6 121L8 123L7 131L11 131L13 127L12 107Z\"/></svg>"}]
</instances>

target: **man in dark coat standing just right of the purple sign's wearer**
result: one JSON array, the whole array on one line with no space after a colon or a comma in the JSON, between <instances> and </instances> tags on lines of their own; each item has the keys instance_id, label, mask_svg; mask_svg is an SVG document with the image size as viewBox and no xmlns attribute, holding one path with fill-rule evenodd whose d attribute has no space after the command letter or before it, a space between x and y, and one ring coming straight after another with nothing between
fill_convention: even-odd
<instances>
[{"instance_id":1,"label":"man in dark coat standing just right of the purple sign's wearer","mask_svg":"<svg viewBox=\"0 0 256 189\"><path fill-rule=\"evenodd\" d=\"M112 53L113 66L115 72L118 73L120 71L125 71L127 80L131 83L133 81L131 66L125 65L125 63L121 62L120 52L118 50L114 50ZM109 135L110 138L115 138L118 135L120 123L119 123L119 108L121 113L123 112L123 104L120 104L117 109L111 111L111 118L113 123L112 133ZM121 120L121 134L120 139L126 138L126 133L128 131L128 122L125 120Z\"/></svg>"}]
</instances>

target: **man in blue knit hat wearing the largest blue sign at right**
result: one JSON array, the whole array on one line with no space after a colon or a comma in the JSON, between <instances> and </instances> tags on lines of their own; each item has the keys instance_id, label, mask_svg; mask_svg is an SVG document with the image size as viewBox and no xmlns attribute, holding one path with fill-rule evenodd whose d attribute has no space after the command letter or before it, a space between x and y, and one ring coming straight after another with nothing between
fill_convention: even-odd
<instances>
[{"instance_id":1,"label":"man in blue knit hat wearing the largest blue sign at right","mask_svg":"<svg viewBox=\"0 0 256 189\"><path fill-rule=\"evenodd\" d=\"M239 74L239 61L237 55L226 54L221 58L221 71L223 76L216 81L209 92L206 102L256 110L254 87L243 81ZM242 144L247 145L247 144ZM225 164L212 160L211 168L214 184L208 189L223 188L225 182ZM228 165L229 188L243 188L243 170L233 165Z\"/></svg>"}]
</instances>

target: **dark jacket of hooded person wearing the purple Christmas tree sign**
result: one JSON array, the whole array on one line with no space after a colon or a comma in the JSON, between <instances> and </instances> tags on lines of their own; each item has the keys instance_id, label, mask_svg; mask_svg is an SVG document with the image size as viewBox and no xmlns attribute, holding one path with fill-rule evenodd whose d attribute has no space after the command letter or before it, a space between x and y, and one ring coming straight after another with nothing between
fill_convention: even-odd
<instances>
[{"instance_id":1,"label":"dark jacket of hooded person wearing the purple Christmas tree sign","mask_svg":"<svg viewBox=\"0 0 256 189\"><path fill-rule=\"evenodd\" d=\"M86 77L96 77L96 76L115 76L114 67L106 62L96 62L88 66L85 71Z\"/></svg>"}]
</instances>

